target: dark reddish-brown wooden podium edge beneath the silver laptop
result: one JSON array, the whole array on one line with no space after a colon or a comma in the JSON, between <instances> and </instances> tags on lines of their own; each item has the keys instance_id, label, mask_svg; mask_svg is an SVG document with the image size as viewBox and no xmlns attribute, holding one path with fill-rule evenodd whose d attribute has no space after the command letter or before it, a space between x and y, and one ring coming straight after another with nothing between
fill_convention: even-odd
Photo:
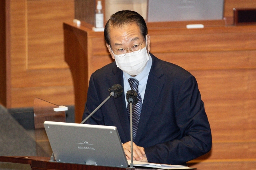
<instances>
[{"instance_id":1,"label":"dark reddish-brown wooden podium edge beneath the silver laptop","mask_svg":"<svg viewBox=\"0 0 256 170\"><path fill-rule=\"evenodd\" d=\"M32 170L130 170L131 168L118 168L107 166L94 166L85 164L70 164L49 162L49 157L33 156L0 156L0 162L29 164ZM135 168L136 170L136 168Z\"/></svg>"}]
</instances>

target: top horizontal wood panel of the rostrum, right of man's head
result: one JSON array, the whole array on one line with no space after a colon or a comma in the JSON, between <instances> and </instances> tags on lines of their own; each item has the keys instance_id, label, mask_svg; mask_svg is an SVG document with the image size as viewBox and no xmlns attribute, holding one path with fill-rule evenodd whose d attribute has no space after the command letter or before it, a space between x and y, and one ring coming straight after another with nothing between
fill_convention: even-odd
<instances>
[{"instance_id":1,"label":"top horizontal wood panel of the rostrum, right of man's head","mask_svg":"<svg viewBox=\"0 0 256 170\"><path fill-rule=\"evenodd\" d=\"M242 49L254 50L256 47L256 28L251 26L214 27L214 29L213 27L180 28L160 31L152 29L148 32L151 35L151 51L153 53L239 51Z\"/></svg>"}]
</instances>

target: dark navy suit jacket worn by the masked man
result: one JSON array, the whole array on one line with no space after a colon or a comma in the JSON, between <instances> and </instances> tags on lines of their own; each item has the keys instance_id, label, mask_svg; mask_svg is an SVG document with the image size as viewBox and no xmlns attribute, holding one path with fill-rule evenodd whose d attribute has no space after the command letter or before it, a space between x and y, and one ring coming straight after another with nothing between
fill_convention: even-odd
<instances>
[{"instance_id":1,"label":"dark navy suit jacket worn by the masked man","mask_svg":"<svg viewBox=\"0 0 256 170\"><path fill-rule=\"evenodd\" d=\"M150 55L152 67L134 142L145 148L148 162L186 165L212 147L204 103L194 76ZM109 96L113 84L124 86L115 62L92 74L83 119ZM86 123L116 126L122 143L130 141L125 96L110 98Z\"/></svg>"}]
</instances>

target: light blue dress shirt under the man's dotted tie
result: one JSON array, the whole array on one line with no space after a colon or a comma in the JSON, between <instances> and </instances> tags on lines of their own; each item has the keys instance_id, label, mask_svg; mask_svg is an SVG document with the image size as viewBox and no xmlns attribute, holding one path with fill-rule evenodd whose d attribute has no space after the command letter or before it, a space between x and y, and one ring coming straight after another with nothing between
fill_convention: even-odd
<instances>
[{"instance_id":1,"label":"light blue dress shirt under the man's dotted tie","mask_svg":"<svg viewBox=\"0 0 256 170\"><path fill-rule=\"evenodd\" d=\"M152 58L149 55L148 63L146 64L144 70L140 74L138 74L137 76L132 77L131 75L129 75L126 72L123 71L124 94L125 94L126 107L127 107L127 104L128 104L128 102L126 100L126 93L127 93L128 90L132 90L131 87L130 87L130 84L128 82L129 78L136 78L136 80L139 81L139 93L140 93L142 104L143 104L143 99L144 99L144 96L145 96L145 91L146 91L146 86L147 86L147 81L148 81L148 74L150 72L151 65L152 65Z\"/></svg>"}]
</instances>

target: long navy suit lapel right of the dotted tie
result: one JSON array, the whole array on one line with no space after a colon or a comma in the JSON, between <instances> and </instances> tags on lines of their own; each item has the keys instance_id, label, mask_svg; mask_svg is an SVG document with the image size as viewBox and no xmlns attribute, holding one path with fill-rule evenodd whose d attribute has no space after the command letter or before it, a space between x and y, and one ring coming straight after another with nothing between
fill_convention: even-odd
<instances>
[{"instance_id":1,"label":"long navy suit lapel right of the dotted tie","mask_svg":"<svg viewBox=\"0 0 256 170\"><path fill-rule=\"evenodd\" d=\"M160 79L160 77L164 74L162 70L162 65L154 55L150 53L152 57L152 66L148 75L148 81L146 85L145 96L142 104L142 111L140 114L140 120L138 125L138 131L135 138L135 143L138 143L146 124L148 123L148 119L153 112L153 108L159 98L160 92L162 90L162 86L164 85L164 81Z\"/></svg>"}]
</instances>

